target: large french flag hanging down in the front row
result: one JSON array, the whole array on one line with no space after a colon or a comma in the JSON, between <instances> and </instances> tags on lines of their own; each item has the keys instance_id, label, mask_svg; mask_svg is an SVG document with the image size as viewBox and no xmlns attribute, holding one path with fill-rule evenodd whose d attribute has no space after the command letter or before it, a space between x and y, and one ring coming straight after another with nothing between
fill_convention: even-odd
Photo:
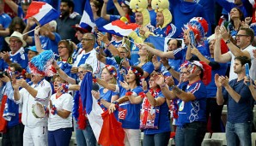
<instances>
[{"instance_id":1,"label":"large french flag hanging down in the front row","mask_svg":"<svg viewBox=\"0 0 256 146\"><path fill-rule=\"evenodd\" d=\"M114 114L103 112L102 108L92 96L92 73L86 73L81 84L82 108L86 109L88 121L94 131L97 142L102 146L124 146L125 131Z\"/></svg>"}]
</instances>

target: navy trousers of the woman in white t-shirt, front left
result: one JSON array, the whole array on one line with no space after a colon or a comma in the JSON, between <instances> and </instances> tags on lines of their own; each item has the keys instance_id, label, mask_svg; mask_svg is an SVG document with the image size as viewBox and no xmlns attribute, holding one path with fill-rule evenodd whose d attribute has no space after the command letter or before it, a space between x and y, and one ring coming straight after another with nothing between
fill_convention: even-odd
<instances>
[{"instance_id":1,"label":"navy trousers of the woman in white t-shirt, front left","mask_svg":"<svg viewBox=\"0 0 256 146\"><path fill-rule=\"evenodd\" d=\"M48 131L48 146L69 146L72 136L72 128L61 128L56 131Z\"/></svg>"}]
</instances>

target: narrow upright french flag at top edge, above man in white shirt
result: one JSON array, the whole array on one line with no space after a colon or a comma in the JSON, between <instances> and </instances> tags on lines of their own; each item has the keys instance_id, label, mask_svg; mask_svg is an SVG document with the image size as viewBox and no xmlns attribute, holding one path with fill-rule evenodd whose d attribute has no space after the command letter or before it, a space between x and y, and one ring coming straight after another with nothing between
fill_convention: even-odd
<instances>
[{"instance_id":1,"label":"narrow upright french flag at top edge, above man in white shirt","mask_svg":"<svg viewBox=\"0 0 256 146\"><path fill-rule=\"evenodd\" d=\"M94 30L94 15L93 11L90 5L89 0L86 0L86 3L84 5L83 13L82 13L82 18L80 20L80 24L82 28L87 28L88 26L92 27L92 30Z\"/></svg>"}]
</instances>

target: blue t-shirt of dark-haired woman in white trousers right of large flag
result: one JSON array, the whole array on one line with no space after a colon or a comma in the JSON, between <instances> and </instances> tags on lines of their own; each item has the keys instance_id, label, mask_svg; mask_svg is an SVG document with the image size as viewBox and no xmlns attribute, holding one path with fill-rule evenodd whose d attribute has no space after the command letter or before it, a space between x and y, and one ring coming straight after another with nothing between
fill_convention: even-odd
<instances>
[{"instance_id":1,"label":"blue t-shirt of dark-haired woman in white trousers right of large flag","mask_svg":"<svg viewBox=\"0 0 256 146\"><path fill-rule=\"evenodd\" d=\"M138 95L143 89L137 86L131 90L133 94ZM121 96L121 94L120 94ZM119 119L122 123L122 127L125 129L139 129L139 116L140 116L141 104L131 104L130 101L119 104L119 114L126 113L124 120Z\"/></svg>"}]
</instances>

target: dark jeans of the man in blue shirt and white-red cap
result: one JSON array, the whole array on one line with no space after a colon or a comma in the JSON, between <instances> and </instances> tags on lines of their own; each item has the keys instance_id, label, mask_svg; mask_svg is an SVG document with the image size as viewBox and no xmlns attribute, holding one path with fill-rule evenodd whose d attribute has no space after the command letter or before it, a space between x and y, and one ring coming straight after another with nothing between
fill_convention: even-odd
<instances>
[{"instance_id":1,"label":"dark jeans of the man in blue shirt and white-red cap","mask_svg":"<svg viewBox=\"0 0 256 146\"><path fill-rule=\"evenodd\" d=\"M176 146L201 145L206 132L206 122L192 122L178 126L175 134Z\"/></svg>"}]
</instances>

